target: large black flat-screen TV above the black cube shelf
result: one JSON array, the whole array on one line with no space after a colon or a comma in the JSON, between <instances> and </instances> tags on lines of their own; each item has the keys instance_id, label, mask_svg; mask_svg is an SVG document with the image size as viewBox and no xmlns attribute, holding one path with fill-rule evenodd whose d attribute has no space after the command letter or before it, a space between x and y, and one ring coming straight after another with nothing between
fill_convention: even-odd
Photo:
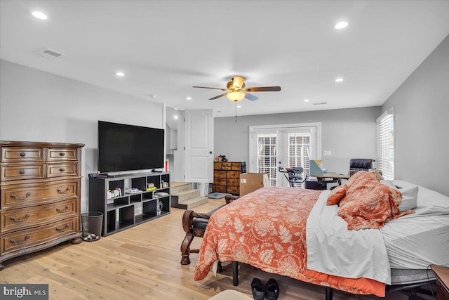
<instances>
[{"instance_id":1,"label":"large black flat-screen TV above the black cube shelf","mask_svg":"<svg viewBox=\"0 0 449 300\"><path fill-rule=\"evenodd\" d=\"M98 171L163 168L163 129L98 121Z\"/></svg>"}]
</instances>

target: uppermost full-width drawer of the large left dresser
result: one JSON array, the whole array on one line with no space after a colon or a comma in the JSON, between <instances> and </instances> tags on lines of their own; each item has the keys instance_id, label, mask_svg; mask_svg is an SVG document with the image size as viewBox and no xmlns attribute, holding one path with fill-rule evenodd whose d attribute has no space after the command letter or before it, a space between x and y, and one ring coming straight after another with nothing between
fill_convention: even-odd
<instances>
[{"instance_id":1,"label":"uppermost full-width drawer of the large left dresser","mask_svg":"<svg viewBox=\"0 0 449 300\"><path fill-rule=\"evenodd\" d=\"M58 200L76 198L79 181L53 181L30 185L11 185L1 189L1 209L29 207Z\"/></svg>"}]
</instances>

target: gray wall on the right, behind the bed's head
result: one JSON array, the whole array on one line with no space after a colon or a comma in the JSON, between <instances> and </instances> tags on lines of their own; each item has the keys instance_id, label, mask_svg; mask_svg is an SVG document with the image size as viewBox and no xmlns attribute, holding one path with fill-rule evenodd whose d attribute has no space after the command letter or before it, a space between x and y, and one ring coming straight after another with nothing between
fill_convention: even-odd
<instances>
[{"instance_id":1,"label":"gray wall on the right, behind the bed's head","mask_svg":"<svg viewBox=\"0 0 449 300\"><path fill-rule=\"evenodd\" d=\"M395 177L449 196L449 36L382 105L394 107Z\"/></svg>"}]
</instances>

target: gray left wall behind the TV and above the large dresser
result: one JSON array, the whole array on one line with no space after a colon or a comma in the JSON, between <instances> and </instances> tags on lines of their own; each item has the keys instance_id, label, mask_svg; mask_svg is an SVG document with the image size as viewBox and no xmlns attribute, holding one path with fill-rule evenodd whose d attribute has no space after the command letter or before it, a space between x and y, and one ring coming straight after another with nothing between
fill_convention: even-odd
<instances>
[{"instance_id":1,"label":"gray left wall behind the TV and above the large dresser","mask_svg":"<svg viewBox=\"0 0 449 300\"><path fill-rule=\"evenodd\" d=\"M97 170L98 120L164 128L163 105L0 60L0 140L86 144L81 211Z\"/></svg>"}]
</instances>

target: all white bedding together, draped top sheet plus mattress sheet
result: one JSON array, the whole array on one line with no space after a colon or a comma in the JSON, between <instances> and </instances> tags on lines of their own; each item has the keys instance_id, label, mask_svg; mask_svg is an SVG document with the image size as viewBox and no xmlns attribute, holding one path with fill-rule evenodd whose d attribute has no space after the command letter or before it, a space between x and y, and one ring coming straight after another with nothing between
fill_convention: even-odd
<instances>
[{"instance_id":1,"label":"all white bedding together, draped top sheet plus mattress sheet","mask_svg":"<svg viewBox=\"0 0 449 300\"><path fill-rule=\"evenodd\" d=\"M401 188L416 186L394 181ZM307 268L345 278L391 284L390 269L449 266L449 197L418 185L415 214L385 223L380 230L347 230L337 205L326 206L324 190L307 219Z\"/></svg>"}]
</instances>

